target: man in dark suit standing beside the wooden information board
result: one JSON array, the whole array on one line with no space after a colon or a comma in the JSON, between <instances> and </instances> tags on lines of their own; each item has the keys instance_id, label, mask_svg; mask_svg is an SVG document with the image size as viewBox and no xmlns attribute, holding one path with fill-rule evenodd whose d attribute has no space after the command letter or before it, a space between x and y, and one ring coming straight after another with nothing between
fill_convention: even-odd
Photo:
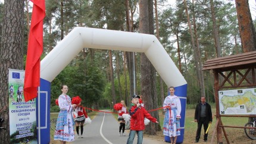
<instances>
[{"instance_id":1,"label":"man in dark suit standing beside the wooden information board","mask_svg":"<svg viewBox=\"0 0 256 144\"><path fill-rule=\"evenodd\" d=\"M213 121L213 115L211 114L211 105L205 102L205 96L201 97L201 103L196 105L195 109L195 122L197 122L197 130L195 142L200 139L202 125L204 125L204 142L207 142L208 133L205 134L208 124Z\"/></svg>"}]
</instances>

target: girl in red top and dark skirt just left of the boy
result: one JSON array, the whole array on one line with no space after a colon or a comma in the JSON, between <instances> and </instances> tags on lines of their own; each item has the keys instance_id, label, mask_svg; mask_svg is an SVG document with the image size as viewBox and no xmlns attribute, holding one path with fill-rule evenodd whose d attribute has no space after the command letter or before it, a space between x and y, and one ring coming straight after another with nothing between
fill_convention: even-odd
<instances>
[{"instance_id":1,"label":"girl in red top and dark skirt just left of the boy","mask_svg":"<svg viewBox=\"0 0 256 144\"><path fill-rule=\"evenodd\" d=\"M120 104L123 105L123 107L118 111L118 121L120 122L120 124L119 124L119 136L126 136L124 134L126 121L124 121L123 114L127 114L127 107L126 107L126 104L124 104L123 100L121 100ZM123 133L121 133L122 129L123 129Z\"/></svg>"}]
</instances>

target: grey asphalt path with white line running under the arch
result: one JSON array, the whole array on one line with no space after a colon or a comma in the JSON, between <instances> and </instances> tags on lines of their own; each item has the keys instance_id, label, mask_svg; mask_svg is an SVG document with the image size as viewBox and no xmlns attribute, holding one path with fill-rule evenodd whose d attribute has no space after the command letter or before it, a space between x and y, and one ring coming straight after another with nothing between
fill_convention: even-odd
<instances>
[{"instance_id":1,"label":"grey asphalt path with white line running under the arch","mask_svg":"<svg viewBox=\"0 0 256 144\"><path fill-rule=\"evenodd\" d=\"M107 110L103 110L107 111ZM129 137L129 130L124 133L126 136L119 136L119 123L115 120L113 114L106 112L98 112L92 123L86 124L83 129L83 138L77 138L75 135L75 144L93 143L93 144L120 144L126 143ZM76 133L76 130L74 131ZM137 143L137 137L133 140L133 143ZM158 140L149 139L143 137L143 143L146 144L158 144L165 143Z\"/></svg>"}]
</instances>

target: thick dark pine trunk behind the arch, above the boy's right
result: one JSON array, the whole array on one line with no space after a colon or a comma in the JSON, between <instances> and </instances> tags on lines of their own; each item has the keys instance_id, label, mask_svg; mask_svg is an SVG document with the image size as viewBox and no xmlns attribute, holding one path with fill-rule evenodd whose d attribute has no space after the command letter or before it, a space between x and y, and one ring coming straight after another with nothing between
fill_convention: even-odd
<instances>
[{"instance_id":1,"label":"thick dark pine trunk behind the arch, above the boy's right","mask_svg":"<svg viewBox=\"0 0 256 144\"><path fill-rule=\"evenodd\" d=\"M151 22L149 21L148 0L139 0L139 32L149 34L149 23ZM154 108L153 101L156 93L154 74L154 67L152 67L151 62L145 54L141 54L141 93L146 109ZM145 128L145 133L156 134L155 124L149 123Z\"/></svg>"}]
</instances>

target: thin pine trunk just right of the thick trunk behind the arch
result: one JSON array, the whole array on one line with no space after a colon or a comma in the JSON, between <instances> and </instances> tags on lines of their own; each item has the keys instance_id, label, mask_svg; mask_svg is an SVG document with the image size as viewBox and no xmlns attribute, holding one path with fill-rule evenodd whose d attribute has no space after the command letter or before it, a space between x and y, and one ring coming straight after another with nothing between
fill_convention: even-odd
<instances>
[{"instance_id":1,"label":"thin pine trunk just right of the thick trunk behind the arch","mask_svg":"<svg viewBox=\"0 0 256 144\"><path fill-rule=\"evenodd\" d=\"M157 39L159 40L160 34L159 34L158 12L157 12L157 0L154 0L154 2L155 2L155 28L156 28ZM164 84L161 76L159 76L159 83L160 83L160 99L161 99L161 104L163 104L164 103Z\"/></svg>"}]
</instances>

